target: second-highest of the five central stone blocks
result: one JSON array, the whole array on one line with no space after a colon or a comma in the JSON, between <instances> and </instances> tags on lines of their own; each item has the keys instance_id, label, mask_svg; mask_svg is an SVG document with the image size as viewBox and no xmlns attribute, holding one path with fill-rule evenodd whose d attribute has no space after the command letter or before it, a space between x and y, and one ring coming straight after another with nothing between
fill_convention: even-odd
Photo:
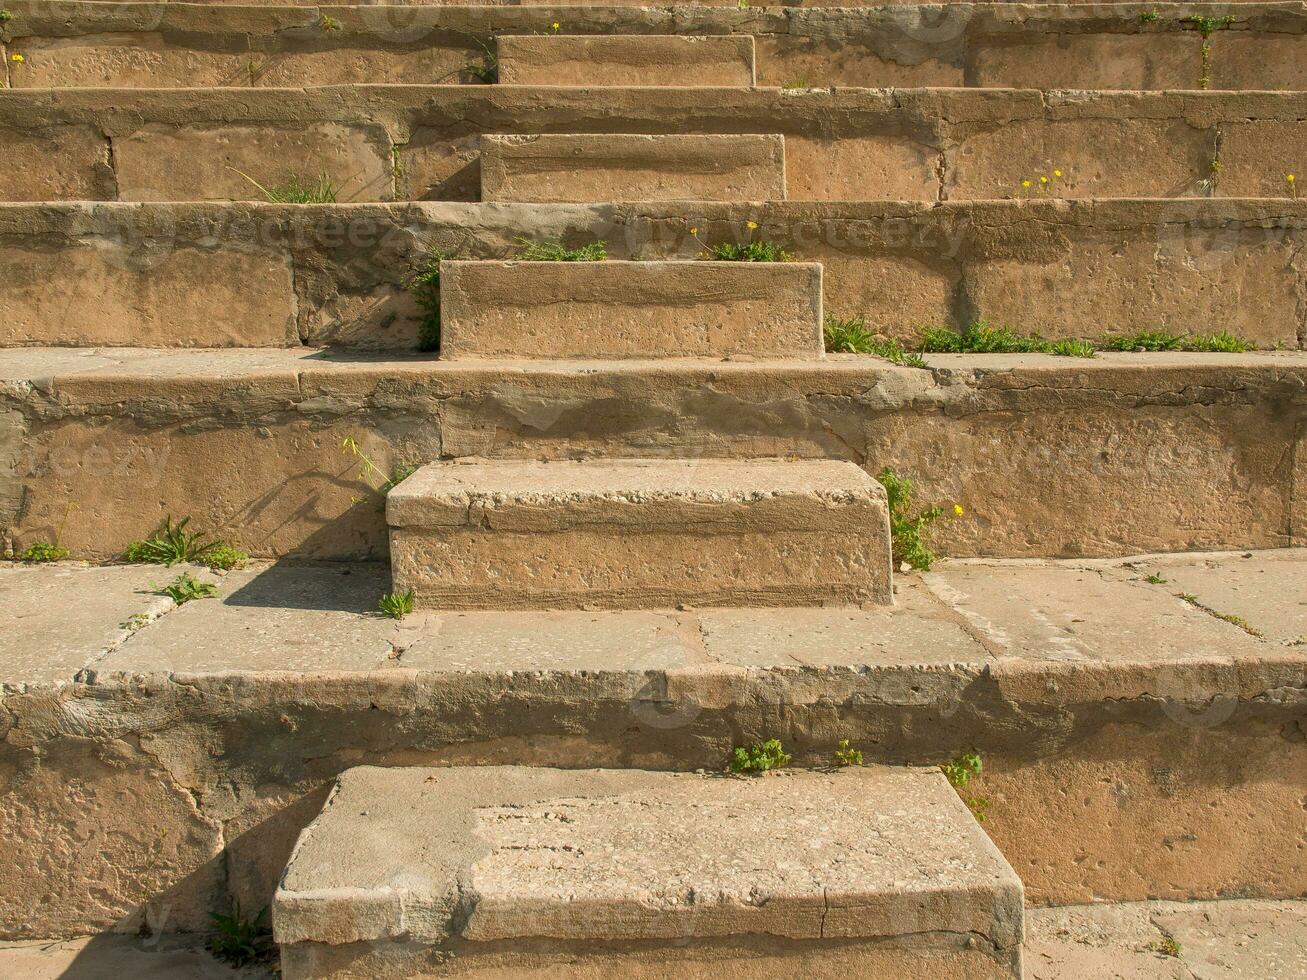
<instances>
[{"instance_id":1,"label":"second-highest of the five central stone blocks","mask_svg":"<svg viewBox=\"0 0 1307 980\"><path fill-rule=\"evenodd\" d=\"M780 135L550 133L485 136L481 200L782 201Z\"/></svg>"}]
</instances>

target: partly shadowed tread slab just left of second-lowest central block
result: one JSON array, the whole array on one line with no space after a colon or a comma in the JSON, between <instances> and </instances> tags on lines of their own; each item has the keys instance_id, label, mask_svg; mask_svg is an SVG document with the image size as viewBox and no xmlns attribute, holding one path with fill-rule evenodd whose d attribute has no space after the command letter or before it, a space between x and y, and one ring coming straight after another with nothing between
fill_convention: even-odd
<instances>
[{"instance_id":1,"label":"partly shadowed tread slab just left of second-lowest central block","mask_svg":"<svg viewBox=\"0 0 1307 980\"><path fill-rule=\"evenodd\" d=\"M375 670L393 655L395 621L376 608L389 591L384 566L259 562L199 578L216 581L218 595L187 602L136 634L98 660L90 677Z\"/></svg>"}]
</instances>

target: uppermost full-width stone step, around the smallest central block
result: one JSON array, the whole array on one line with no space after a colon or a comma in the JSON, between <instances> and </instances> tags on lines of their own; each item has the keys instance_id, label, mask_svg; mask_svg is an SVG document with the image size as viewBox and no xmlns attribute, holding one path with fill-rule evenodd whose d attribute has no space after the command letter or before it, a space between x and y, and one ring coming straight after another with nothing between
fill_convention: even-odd
<instances>
[{"instance_id":1,"label":"uppermost full-width stone step, around the smallest central block","mask_svg":"<svg viewBox=\"0 0 1307 980\"><path fill-rule=\"evenodd\" d=\"M1307 88L1300 4L946 4L574 8L515 5L214 7L7 0L5 69L14 88L301 88L477 82L507 48L569 37L746 35L759 85L1195 89L1202 38L1185 17L1234 16L1210 39L1210 88ZM843 7L843 5L840 5ZM1157 13L1142 18L1141 13ZM554 25L558 25L555 29ZM565 43L575 43L566 41ZM716 41L714 43L723 43ZM24 55L22 63L9 60ZM508 63L511 71L512 59ZM469 71L474 65L477 72ZM651 65L659 67L659 65ZM738 71L738 68L737 68ZM580 78L578 74L575 78ZM595 77L595 76L589 76ZM702 64L673 72L707 85ZM616 77L599 77L616 84ZM635 84L644 78L637 78ZM748 84L735 81L732 84Z\"/></svg>"}]
</instances>

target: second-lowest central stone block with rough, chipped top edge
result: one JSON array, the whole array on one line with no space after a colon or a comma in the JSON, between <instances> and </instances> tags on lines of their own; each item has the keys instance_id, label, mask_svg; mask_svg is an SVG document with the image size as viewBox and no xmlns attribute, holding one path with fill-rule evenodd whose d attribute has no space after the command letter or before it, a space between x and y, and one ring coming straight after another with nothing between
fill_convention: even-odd
<instances>
[{"instance_id":1,"label":"second-lowest central stone block with rough, chipped top edge","mask_svg":"<svg viewBox=\"0 0 1307 980\"><path fill-rule=\"evenodd\" d=\"M425 608L893 601L885 491L847 461L433 463L386 517L395 589Z\"/></svg>"}]
</instances>

